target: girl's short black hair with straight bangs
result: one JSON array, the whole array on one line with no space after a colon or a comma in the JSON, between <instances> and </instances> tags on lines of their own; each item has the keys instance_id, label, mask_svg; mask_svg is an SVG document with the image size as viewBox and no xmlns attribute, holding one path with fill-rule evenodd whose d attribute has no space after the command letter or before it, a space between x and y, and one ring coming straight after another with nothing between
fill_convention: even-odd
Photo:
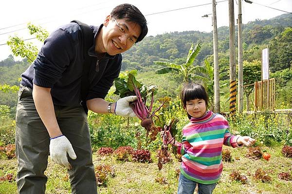
<instances>
[{"instance_id":1,"label":"girl's short black hair with straight bangs","mask_svg":"<svg viewBox=\"0 0 292 194\"><path fill-rule=\"evenodd\" d=\"M183 108L186 109L186 102L195 99L203 99L206 102L206 108L209 108L209 97L205 88L200 84L195 84L193 82L186 83L183 85L181 91L181 100ZM191 118L191 115L187 114L188 118Z\"/></svg>"}]
</instances>

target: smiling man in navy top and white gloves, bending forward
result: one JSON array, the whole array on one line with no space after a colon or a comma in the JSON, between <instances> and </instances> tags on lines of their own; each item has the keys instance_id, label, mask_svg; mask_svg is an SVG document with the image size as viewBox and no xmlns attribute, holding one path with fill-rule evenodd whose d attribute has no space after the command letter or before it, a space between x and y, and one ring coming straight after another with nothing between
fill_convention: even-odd
<instances>
[{"instance_id":1,"label":"smiling man in navy top and white gloves, bending forward","mask_svg":"<svg viewBox=\"0 0 292 194\"><path fill-rule=\"evenodd\" d=\"M52 33L21 75L16 115L17 186L20 194L44 194L48 155L68 168L73 194L97 194L87 115L81 105L83 56L92 58L86 105L96 113L134 116L136 96L104 100L121 70L122 56L147 34L146 19L131 4L115 7L84 52L82 31L71 22ZM84 101L83 101L84 102ZM68 157L67 157L68 154Z\"/></svg>"}]
</instances>

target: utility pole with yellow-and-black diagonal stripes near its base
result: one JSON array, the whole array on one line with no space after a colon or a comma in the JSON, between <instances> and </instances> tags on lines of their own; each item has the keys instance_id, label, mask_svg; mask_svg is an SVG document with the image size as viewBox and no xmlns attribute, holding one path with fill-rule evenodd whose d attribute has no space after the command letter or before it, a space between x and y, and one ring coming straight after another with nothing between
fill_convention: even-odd
<instances>
[{"instance_id":1,"label":"utility pole with yellow-and-black diagonal stripes near its base","mask_svg":"<svg viewBox=\"0 0 292 194\"><path fill-rule=\"evenodd\" d=\"M235 62L235 25L234 25L234 2L229 1L229 115L232 117L236 112L236 62Z\"/></svg>"}]
</instances>

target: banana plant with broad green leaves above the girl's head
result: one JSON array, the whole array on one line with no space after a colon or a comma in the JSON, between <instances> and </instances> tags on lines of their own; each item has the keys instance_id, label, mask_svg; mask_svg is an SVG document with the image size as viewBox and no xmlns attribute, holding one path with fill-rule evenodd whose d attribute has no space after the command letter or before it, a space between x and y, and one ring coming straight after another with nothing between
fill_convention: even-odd
<instances>
[{"instance_id":1,"label":"banana plant with broad green leaves above the girl's head","mask_svg":"<svg viewBox=\"0 0 292 194\"><path fill-rule=\"evenodd\" d=\"M200 43L194 48L193 44L188 52L186 62L183 65L177 65L171 62L164 62L164 61L153 61L154 64L166 66L159 70L156 70L156 74L164 74L164 73L178 73L181 77L183 77L183 82L190 82L192 77L195 75L194 73L198 69L199 66L194 67L193 62L200 52L201 45Z\"/></svg>"}]
</instances>

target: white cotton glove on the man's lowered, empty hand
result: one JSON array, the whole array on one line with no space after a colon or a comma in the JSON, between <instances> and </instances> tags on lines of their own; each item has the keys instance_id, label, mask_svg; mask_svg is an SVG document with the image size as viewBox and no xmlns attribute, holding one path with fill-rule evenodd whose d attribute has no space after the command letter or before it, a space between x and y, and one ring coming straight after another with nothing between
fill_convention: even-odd
<instances>
[{"instance_id":1,"label":"white cotton glove on the man's lowered, empty hand","mask_svg":"<svg viewBox=\"0 0 292 194\"><path fill-rule=\"evenodd\" d=\"M50 141L51 160L71 170L72 166L68 162L67 152L71 159L77 158L70 141L64 135L51 139Z\"/></svg>"}]
</instances>

